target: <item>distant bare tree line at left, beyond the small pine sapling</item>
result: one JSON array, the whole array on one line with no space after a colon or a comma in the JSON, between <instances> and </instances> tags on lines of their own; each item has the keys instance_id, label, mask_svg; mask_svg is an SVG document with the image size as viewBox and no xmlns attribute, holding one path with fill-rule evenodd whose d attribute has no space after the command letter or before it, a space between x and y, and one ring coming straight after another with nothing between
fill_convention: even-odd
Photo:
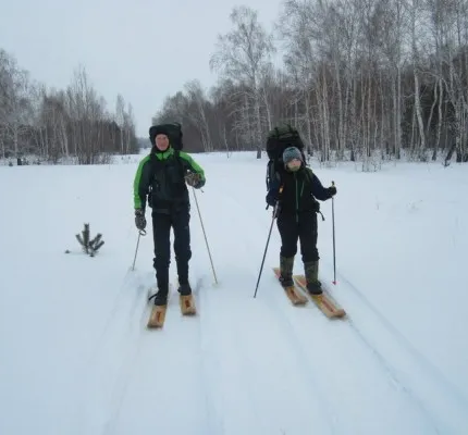
<instances>
[{"instance_id":1,"label":"distant bare tree line at left, beyond the small pine sapling","mask_svg":"<svg viewBox=\"0 0 468 435\"><path fill-rule=\"evenodd\" d=\"M0 158L95 164L137 149L132 104L122 95L109 111L83 66L66 89L48 89L0 49Z\"/></svg>"}]
</instances>

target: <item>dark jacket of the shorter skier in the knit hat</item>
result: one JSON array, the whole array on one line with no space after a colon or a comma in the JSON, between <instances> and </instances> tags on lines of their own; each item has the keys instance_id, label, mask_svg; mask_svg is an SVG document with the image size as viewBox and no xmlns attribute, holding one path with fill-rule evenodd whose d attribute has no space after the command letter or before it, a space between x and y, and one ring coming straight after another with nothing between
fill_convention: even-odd
<instances>
[{"instance_id":1,"label":"dark jacket of the shorter skier in the knit hat","mask_svg":"<svg viewBox=\"0 0 468 435\"><path fill-rule=\"evenodd\" d=\"M283 186L281 194L279 194L280 186ZM296 172L285 169L278 171L268 196L280 200L281 214L296 215L303 212L319 212L320 206L317 199L325 201L332 197L312 170L304 164Z\"/></svg>"}]
</instances>

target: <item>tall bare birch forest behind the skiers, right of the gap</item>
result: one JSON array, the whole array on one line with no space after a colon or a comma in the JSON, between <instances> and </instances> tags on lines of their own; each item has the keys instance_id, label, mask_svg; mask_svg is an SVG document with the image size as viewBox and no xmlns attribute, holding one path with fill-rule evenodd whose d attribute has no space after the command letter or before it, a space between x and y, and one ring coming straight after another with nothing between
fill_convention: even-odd
<instances>
[{"instance_id":1,"label":"tall bare birch forest behind the skiers, right of the gap","mask_svg":"<svg viewBox=\"0 0 468 435\"><path fill-rule=\"evenodd\" d=\"M468 161L468 0L286 0L271 33L248 7L230 17L218 84L194 77L152 120L181 122L190 151L260 157L287 122L321 161Z\"/></svg>"}]
</instances>

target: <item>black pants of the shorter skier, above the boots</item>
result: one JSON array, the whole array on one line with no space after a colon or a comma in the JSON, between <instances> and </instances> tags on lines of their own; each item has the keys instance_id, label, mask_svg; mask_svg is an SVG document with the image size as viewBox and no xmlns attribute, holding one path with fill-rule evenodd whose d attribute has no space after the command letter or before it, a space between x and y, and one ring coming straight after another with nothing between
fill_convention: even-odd
<instances>
[{"instance_id":1,"label":"black pants of the shorter skier, above the boots","mask_svg":"<svg viewBox=\"0 0 468 435\"><path fill-rule=\"evenodd\" d=\"M303 262L319 260L316 212L301 212L297 214L280 212L276 225L281 235L282 257L294 257L297 253L297 240L299 240Z\"/></svg>"}]
</instances>

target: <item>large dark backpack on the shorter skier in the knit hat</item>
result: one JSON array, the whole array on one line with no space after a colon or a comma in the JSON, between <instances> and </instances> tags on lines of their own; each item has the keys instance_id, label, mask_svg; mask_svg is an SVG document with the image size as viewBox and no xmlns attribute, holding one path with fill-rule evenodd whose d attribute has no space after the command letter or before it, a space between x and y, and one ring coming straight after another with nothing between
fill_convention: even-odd
<instances>
[{"instance_id":1,"label":"large dark backpack on the shorter skier in the knit hat","mask_svg":"<svg viewBox=\"0 0 468 435\"><path fill-rule=\"evenodd\" d=\"M291 124L283 124L268 133L267 154L269 161L267 164L267 190L270 190L272 184L278 181L278 172L284 169L283 151L288 147L298 148L304 163L307 164L306 154L304 153L305 146L297 128Z\"/></svg>"}]
</instances>

